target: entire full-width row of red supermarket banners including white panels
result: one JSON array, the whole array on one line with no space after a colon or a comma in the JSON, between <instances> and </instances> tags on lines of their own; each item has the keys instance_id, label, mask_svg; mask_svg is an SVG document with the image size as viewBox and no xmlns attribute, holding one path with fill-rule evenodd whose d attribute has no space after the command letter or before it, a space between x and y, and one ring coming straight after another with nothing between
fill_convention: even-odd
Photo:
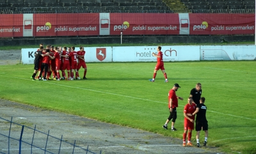
<instances>
[{"instance_id":1,"label":"entire full-width row of red supermarket banners including white panels","mask_svg":"<svg viewBox=\"0 0 256 154\"><path fill-rule=\"evenodd\" d=\"M255 14L248 13L28 13L0 18L0 37L255 34Z\"/></svg>"}]
</instances>

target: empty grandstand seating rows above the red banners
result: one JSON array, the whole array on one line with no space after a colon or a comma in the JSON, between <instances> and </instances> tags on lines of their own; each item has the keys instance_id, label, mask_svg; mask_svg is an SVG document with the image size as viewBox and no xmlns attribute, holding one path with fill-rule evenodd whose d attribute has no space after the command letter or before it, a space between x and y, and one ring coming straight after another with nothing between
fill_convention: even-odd
<instances>
[{"instance_id":1,"label":"empty grandstand seating rows above the red banners","mask_svg":"<svg viewBox=\"0 0 256 154\"><path fill-rule=\"evenodd\" d=\"M0 0L17 13L254 13L253 0Z\"/></svg>"}]
</instances>

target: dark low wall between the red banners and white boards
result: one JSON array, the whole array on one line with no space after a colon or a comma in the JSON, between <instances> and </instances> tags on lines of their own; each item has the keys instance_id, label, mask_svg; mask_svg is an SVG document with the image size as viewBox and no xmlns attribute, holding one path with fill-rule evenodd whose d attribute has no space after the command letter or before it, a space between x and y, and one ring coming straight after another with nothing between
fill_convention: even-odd
<instances>
[{"instance_id":1,"label":"dark low wall between the red banners and white boards","mask_svg":"<svg viewBox=\"0 0 256 154\"><path fill-rule=\"evenodd\" d=\"M123 36L123 43L221 43L254 42L254 35L231 36ZM120 36L79 37L79 38L2 38L1 46L44 44L99 44L120 43Z\"/></svg>"}]
</instances>

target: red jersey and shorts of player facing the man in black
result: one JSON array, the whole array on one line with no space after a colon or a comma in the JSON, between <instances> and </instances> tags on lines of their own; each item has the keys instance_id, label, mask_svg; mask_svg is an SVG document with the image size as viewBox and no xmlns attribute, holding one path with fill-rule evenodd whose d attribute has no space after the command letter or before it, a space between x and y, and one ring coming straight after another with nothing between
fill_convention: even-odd
<instances>
[{"instance_id":1,"label":"red jersey and shorts of player facing the man in black","mask_svg":"<svg viewBox=\"0 0 256 154\"><path fill-rule=\"evenodd\" d=\"M193 112L196 111L196 104L186 104L184 107L184 113L185 114L193 114ZM195 115L194 116L189 116L189 118L195 120ZM194 123L189 121L186 117L184 117L184 130L193 130L194 129Z\"/></svg>"}]
</instances>

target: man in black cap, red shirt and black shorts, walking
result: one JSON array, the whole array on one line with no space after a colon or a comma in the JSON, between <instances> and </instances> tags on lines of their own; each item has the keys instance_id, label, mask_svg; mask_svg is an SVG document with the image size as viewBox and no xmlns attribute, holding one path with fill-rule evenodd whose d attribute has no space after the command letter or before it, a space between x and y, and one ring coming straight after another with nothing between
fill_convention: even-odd
<instances>
[{"instance_id":1,"label":"man in black cap, red shirt and black shorts, walking","mask_svg":"<svg viewBox=\"0 0 256 154\"><path fill-rule=\"evenodd\" d=\"M168 107L169 107L169 111L170 111L170 116L167 118L165 124L163 125L164 129L168 129L167 125L170 122L170 120L172 119L172 131L177 130L176 128L174 128L174 123L175 120L177 119L177 111L176 111L176 107L178 107L178 99L183 100L182 97L177 96L176 95L176 91L180 88L179 84L174 84L173 88L170 89L169 93L168 93Z\"/></svg>"}]
</instances>

